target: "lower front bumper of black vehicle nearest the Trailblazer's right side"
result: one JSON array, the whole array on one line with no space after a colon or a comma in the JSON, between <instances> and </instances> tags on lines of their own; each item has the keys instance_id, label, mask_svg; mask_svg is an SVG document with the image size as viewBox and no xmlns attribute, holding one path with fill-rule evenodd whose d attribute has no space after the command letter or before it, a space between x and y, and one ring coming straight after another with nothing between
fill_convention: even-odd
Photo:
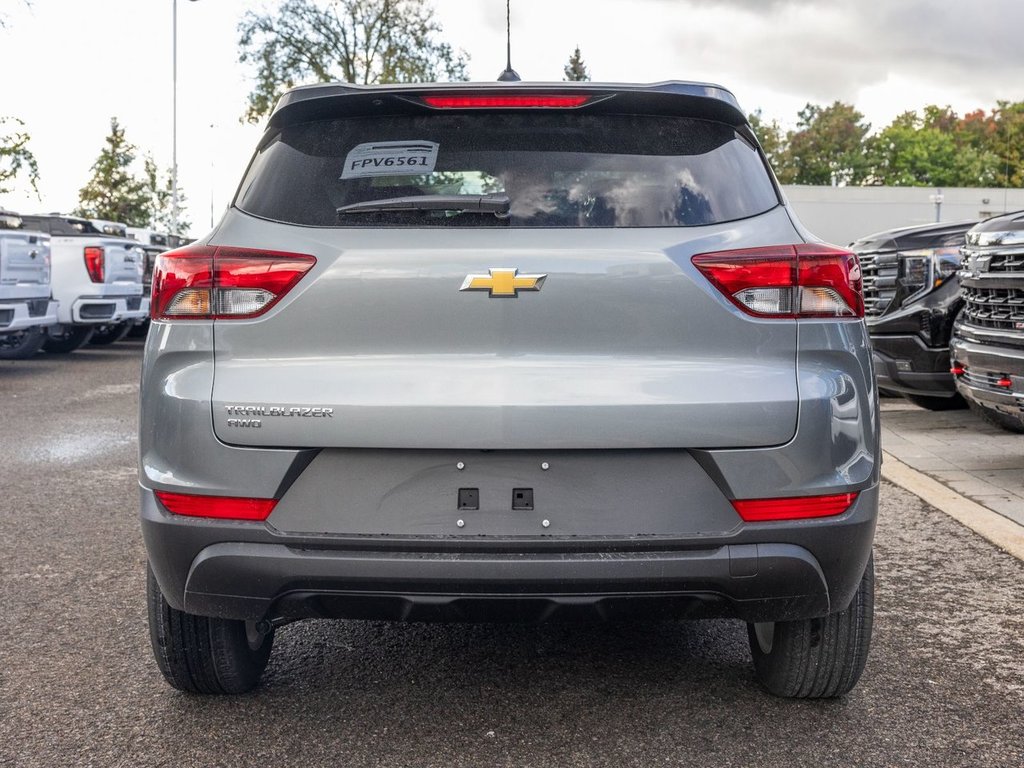
<instances>
[{"instance_id":1,"label":"lower front bumper of black vehicle nearest the Trailblazer's right side","mask_svg":"<svg viewBox=\"0 0 1024 768\"><path fill-rule=\"evenodd\" d=\"M918 336L871 336L874 376L883 389L929 397L952 397L949 347L929 347Z\"/></svg>"}]
</instances>

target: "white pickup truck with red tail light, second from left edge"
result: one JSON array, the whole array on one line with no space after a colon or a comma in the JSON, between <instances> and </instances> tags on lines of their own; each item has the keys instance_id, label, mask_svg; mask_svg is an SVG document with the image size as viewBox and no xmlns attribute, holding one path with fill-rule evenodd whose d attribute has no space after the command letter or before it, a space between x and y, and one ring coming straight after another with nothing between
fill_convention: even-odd
<instances>
[{"instance_id":1,"label":"white pickup truck with red tail light, second from left edge","mask_svg":"<svg viewBox=\"0 0 1024 768\"><path fill-rule=\"evenodd\" d=\"M148 315L143 255L122 225L59 214L23 218L26 227L50 236L53 298L59 307L43 344L46 351L74 351L94 332L120 338L121 330Z\"/></svg>"}]
</instances>

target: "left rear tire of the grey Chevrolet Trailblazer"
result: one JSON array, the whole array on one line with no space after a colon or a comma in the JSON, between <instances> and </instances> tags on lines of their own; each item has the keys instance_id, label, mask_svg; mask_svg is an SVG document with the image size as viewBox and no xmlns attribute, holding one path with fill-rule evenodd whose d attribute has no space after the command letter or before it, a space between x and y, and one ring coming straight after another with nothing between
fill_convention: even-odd
<instances>
[{"instance_id":1,"label":"left rear tire of the grey Chevrolet Trailblazer","mask_svg":"<svg viewBox=\"0 0 1024 768\"><path fill-rule=\"evenodd\" d=\"M188 693L247 693L259 685L273 646L273 628L211 618L172 608L146 568L150 640L164 679Z\"/></svg>"}]
</instances>

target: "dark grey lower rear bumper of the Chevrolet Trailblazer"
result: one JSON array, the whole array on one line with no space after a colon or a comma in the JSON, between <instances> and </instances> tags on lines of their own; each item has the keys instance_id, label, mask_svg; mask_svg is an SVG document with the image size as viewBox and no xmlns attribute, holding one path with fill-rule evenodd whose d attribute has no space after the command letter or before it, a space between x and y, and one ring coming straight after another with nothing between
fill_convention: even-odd
<instances>
[{"instance_id":1,"label":"dark grey lower rear bumper of the Chevrolet Trailblazer","mask_svg":"<svg viewBox=\"0 0 1024 768\"><path fill-rule=\"evenodd\" d=\"M168 602L191 613L791 621L849 603L870 553L878 486L837 518L746 524L687 541L295 537L176 517L145 488L141 501L154 573Z\"/></svg>"}]
</instances>

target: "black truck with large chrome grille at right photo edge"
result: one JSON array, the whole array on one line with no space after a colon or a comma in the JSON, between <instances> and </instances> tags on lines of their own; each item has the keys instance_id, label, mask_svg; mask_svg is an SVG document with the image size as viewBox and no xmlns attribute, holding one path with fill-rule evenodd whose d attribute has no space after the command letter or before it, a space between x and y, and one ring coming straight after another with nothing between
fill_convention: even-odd
<instances>
[{"instance_id":1,"label":"black truck with large chrome grille at right photo edge","mask_svg":"<svg viewBox=\"0 0 1024 768\"><path fill-rule=\"evenodd\" d=\"M967 233L964 310L951 345L956 389L985 421L1024 432L1024 211Z\"/></svg>"}]
</instances>

